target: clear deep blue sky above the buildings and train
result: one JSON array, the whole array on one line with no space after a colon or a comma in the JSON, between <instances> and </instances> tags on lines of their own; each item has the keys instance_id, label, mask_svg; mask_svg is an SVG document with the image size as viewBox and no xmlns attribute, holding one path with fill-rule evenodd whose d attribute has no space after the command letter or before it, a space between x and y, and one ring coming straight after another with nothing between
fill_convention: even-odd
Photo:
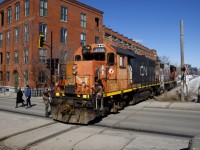
<instances>
[{"instance_id":1,"label":"clear deep blue sky above the buildings and train","mask_svg":"<svg viewBox=\"0 0 200 150\"><path fill-rule=\"evenodd\" d=\"M104 12L103 24L181 64L180 21L184 62L200 68L200 0L78 0Z\"/></svg>"}]
</instances>

